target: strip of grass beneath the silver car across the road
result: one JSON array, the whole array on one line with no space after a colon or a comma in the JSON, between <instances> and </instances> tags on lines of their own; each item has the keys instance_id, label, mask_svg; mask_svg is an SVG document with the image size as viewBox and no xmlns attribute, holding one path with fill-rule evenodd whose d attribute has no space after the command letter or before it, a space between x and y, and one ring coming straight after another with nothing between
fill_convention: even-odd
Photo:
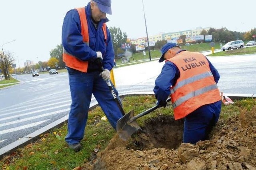
<instances>
[{"instance_id":1,"label":"strip of grass beneath the silver car across the road","mask_svg":"<svg viewBox=\"0 0 256 170\"><path fill-rule=\"evenodd\" d=\"M244 54L256 54L256 47L238 48L233 50L226 50L222 52L216 52L207 56L234 56Z\"/></svg>"}]
</instances>

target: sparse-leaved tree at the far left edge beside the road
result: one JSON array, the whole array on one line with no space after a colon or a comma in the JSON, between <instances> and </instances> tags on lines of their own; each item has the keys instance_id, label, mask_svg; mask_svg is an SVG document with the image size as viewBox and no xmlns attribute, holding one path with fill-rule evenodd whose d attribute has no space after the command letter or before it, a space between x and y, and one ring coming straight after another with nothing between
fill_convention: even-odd
<instances>
[{"instance_id":1,"label":"sparse-leaved tree at the far left edge beside the road","mask_svg":"<svg viewBox=\"0 0 256 170\"><path fill-rule=\"evenodd\" d=\"M0 69L2 70L5 80L10 80L9 73L12 70L12 63L14 62L14 57L11 52L0 53ZM8 70L8 75L7 75Z\"/></svg>"}]
</instances>

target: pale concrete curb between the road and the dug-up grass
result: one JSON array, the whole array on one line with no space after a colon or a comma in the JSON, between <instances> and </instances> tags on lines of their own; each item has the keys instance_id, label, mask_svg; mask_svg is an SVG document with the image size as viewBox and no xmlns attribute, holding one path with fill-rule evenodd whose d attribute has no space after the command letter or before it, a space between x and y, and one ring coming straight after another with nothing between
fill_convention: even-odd
<instances>
[{"instance_id":1,"label":"pale concrete curb between the road and the dug-up grass","mask_svg":"<svg viewBox=\"0 0 256 170\"><path fill-rule=\"evenodd\" d=\"M153 95L154 92L131 92L131 93L125 93L125 94L120 94L120 98L124 98L126 96L140 96L140 95ZM256 94L224 94L231 98L232 100L241 100L244 98L256 98ZM98 106L97 102L91 103L90 109L92 110ZM64 116L63 118L52 122L51 124L48 124L47 126L36 130L35 132L28 134L27 136L7 145L4 146L3 148L0 149L0 160L3 158L3 156L11 154L16 151L16 149L25 146L26 144L36 142L36 140L39 139L39 136L41 134L47 133L50 130L54 128L58 128L62 126L63 124L68 122L68 115Z\"/></svg>"}]
</instances>

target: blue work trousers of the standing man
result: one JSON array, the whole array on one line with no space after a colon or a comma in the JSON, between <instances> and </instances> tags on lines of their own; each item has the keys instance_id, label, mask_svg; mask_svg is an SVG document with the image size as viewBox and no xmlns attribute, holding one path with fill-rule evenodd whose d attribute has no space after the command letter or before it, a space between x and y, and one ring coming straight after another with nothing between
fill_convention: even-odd
<instances>
[{"instance_id":1,"label":"blue work trousers of the standing man","mask_svg":"<svg viewBox=\"0 0 256 170\"><path fill-rule=\"evenodd\" d=\"M72 104L68 117L66 142L76 144L83 139L92 94L116 130L116 122L122 117L122 113L106 82L99 76L100 71L84 73L72 68L67 68L67 70ZM118 96L117 90L114 86L112 87ZM121 103L119 96L118 100Z\"/></svg>"}]
</instances>

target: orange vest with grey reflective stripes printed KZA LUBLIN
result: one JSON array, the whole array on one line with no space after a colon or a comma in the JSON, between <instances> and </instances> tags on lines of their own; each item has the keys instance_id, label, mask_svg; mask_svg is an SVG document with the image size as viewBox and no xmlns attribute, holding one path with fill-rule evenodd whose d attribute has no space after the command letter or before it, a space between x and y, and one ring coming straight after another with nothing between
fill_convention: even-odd
<instances>
[{"instance_id":1,"label":"orange vest with grey reflective stripes printed KZA LUBLIN","mask_svg":"<svg viewBox=\"0 0 256 170\"><path fill-rule=\"evenodd\" d=\"M168 60L180 70L180 78L170 89L175 120L220 100L220 91L203 54L183 51Z\"/></svg>"}]
</instances>

